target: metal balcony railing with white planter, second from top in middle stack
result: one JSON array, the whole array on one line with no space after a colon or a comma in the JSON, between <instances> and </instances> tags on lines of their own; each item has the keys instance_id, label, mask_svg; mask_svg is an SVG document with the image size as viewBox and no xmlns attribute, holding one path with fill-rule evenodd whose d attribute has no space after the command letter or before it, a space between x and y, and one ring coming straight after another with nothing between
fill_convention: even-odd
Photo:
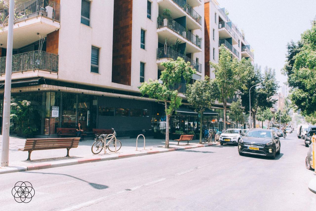
<instances>
[{"instance_id":1,"label":"metal balcony railing with white planter, second from top in middle stack","mask_svg":"<svg viewBox=\"0 0 316 211\"><path fill-rule=\"evenodd\" d=\"M201 38L197 35L193 35L190 31L180 25L178 22L175 22L171 18L164 18L162 16L158 16L157 18L157 29L167 27L173 30L178 35L184 37L186 40L190 41L197 47L201 48Z\"/></svg>"}]
</instances>

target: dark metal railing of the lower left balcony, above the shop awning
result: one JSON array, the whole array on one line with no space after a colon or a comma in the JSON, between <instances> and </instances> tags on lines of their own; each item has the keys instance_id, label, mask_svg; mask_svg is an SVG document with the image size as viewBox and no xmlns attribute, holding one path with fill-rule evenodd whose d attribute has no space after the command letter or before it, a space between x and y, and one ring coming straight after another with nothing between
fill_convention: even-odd
<instances>
[{"instance_id":1,"label":"dark metal railing of the lower left balcony, above the shop awning","mask_svg":"<svg viewBox=\"0 0 316 211\"><path fill-rule=\"evenodd\" d=\"M0 57L0 74L5 74L6 58ZM12 56L12 73L35 69L57 73L58 54L38 50Z\"/></svg>"}]
</instances>

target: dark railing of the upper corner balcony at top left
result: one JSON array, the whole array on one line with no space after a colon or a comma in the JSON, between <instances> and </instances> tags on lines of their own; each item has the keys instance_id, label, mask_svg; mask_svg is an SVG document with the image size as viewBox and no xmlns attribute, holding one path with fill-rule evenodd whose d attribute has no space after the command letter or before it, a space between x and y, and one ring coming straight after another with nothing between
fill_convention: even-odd
<instances>
[{"instance_id":1,"label":"dark railing of the upper corner balcony at top left","mask_svg":"<svg viewBox=\"0 0 316 211\"><path fill-rule=\"evenodd\" d=\"M0 25L8 24L9 8L0 10ZM45 16L60 21L60 4L51 0L31 0L16 5L14 22L20 22L36 16Z\"/></svg>"}]
</instances>

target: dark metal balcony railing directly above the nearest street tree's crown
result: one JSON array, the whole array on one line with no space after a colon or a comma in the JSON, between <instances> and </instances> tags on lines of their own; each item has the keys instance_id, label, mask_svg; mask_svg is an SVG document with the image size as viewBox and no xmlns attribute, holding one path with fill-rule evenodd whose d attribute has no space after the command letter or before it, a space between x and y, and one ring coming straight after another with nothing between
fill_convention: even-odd
<instances>
[{"instance_id":1,"label":"dark metal balcony railing directly above the nearest street tree's crown","mask_svg":"<svg viewBox=\"0 0 316 211\"><path fill-rule=\"evenodd\" d=\"M178 57L181 57L184 59L185 62L190 62L191 66L196 69L197 72L202 73L202 64L194 61L193 59L190 59L189 57L180 54L179 52L171 49L170 47L167 47L165 49L164 47L162 48L157 48L157 59L164 59L164 58L170 58L173 60L177 60Z\"/></svg>"}]
</instances>

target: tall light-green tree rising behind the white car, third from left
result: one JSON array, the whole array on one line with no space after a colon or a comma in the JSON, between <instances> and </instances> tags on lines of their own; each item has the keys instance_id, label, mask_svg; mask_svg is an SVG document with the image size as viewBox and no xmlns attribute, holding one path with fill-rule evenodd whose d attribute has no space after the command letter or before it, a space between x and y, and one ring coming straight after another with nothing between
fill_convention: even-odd
<instances>
[{"instance_id":1,"label":"tall light-green tree rising behind the white car, third from left","mask_svg":"<svg viewBox=\"0 0 316 211\"><path fill-rule=\"evenodd\" d=\"M219 62L210 62L210 67L214 68L215 83L219 87L220 95L218 101L224 107L224 130L226 130L227 99L232 98L240 87L243 87L245 78L245 63L249 63L242 58L232 60L231 53L222 45L220 47Z\"/></svg>"}]
</instances>

